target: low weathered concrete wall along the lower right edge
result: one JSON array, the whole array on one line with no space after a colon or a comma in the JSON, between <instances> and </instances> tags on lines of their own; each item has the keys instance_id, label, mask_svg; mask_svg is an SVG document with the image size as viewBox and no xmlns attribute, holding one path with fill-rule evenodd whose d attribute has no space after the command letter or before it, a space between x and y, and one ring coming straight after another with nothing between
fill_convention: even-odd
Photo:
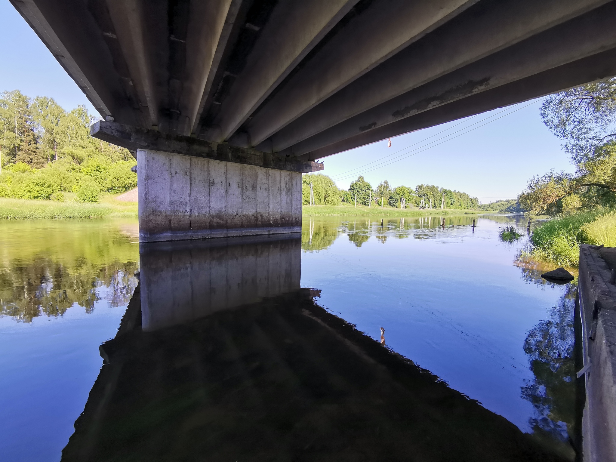
<instances>
[{"instance_id":1,"label":"low weathered concrete wall along the lower right edge","mask_svg":"<svg viewBox=\"0 0 616 462\"><path fill-rule=\"evenodd\" d=\"M583 451L586 462L616 461L616 285L614 248L580 246L579 296L586 376Z\"/></svg>"}]
</instances>

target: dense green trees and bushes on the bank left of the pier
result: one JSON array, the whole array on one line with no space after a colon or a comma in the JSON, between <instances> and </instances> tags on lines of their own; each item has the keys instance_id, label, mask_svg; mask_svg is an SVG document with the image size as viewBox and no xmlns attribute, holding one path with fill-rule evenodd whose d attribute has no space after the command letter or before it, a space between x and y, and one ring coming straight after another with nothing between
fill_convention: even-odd
<instances>
[{"instance_id":1,"label":"dense green trees and bushes on the bank left of the pier","mask_svg":"<svg viewBox=\"0 0 616 462\"><path fill-rule=\"evenodd\" d=\"M50 97L0 94L0 197L98 201L137 185L128 150L94 139L84 106L66 111Z\"/></svg>"}]
</instances>

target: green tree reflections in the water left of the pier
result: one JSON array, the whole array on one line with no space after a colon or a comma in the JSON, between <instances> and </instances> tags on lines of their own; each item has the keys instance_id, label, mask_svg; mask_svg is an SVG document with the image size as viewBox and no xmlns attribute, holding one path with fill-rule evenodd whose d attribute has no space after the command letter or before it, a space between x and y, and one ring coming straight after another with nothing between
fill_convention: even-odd
<instances>
[{"instance_id":1,"label":"green tree reflections in the water left of the pier","mask_svg":"<svg viewBox=\"0 0 616 462\"><path fill-rule=\"evenodd\" d=\"M31 322L99 299L127 304L137 280L139 246L119 232L131 222L0 224L0 316Z\"/></svg>"}]
</instances>

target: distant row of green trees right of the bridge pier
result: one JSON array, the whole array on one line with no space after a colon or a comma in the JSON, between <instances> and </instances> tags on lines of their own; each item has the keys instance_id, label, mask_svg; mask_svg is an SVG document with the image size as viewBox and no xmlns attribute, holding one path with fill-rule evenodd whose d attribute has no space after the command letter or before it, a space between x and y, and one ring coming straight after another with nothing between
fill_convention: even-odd
<instances>
[{"instance_id":1,"label":"distant row of green trees right of the bridge pier","mask_svg":"<svg viewBox=\"0 0 616 462\"><path fill-rule=\"evenodd\" d=\"M340 205L341 202L368 205L387 205L395 208L443 208L477 209L479 200L467 193L439 188L435 185L420 184L415 188L407 186L392 187L387 180L373 188L363 176L351 183L349 190L339 189L334 181L323 174L310 174L302 177L302 200L310 203L310 183L314 203L317 205Z\"/></svg>"}]
</instances>

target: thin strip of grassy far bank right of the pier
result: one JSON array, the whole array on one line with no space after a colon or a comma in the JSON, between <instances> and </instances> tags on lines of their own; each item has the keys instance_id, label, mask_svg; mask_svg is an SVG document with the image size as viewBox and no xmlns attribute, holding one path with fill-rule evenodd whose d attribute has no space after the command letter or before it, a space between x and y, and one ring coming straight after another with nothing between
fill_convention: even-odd
<instances>
[{"instance_id":1,"label":"thin strip of grassy far bank right of the pier","mask_svg":"<svg viewBox=\"0 0 616 462\"><path fill-rule=\"evenodd\" d=\"M458 210L458 209L398 209L394 207L368 207L367 205L304 205L302 215L304 216L392 216L392 217L423 217L429 215L460 215L460 214L479 214L478 210Z\"/></svg>"}]
</instances>

